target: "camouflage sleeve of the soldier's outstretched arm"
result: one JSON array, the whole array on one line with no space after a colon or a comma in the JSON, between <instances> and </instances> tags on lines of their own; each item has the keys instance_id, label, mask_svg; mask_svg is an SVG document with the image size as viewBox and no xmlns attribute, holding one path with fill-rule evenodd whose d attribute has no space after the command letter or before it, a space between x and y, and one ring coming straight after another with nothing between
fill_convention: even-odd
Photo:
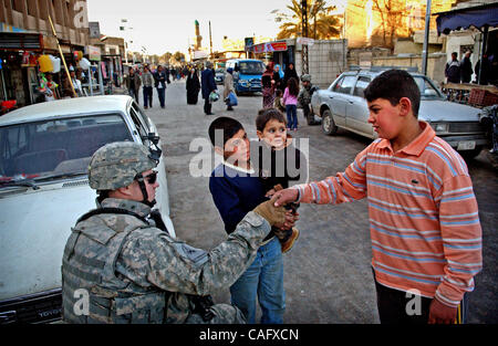
<instances>
[{"instance_id":1,"label":"camouflage sleeve of the soldier's outstretched arm","mask_svg":"<svg viewBox=\"0 0 498 346\"><path fill-rule=\"evenodd\" d=\"M251 211L225 242L207 252L157 230L127 242L122 254L126 270L121 272L164 291L207 295L240 276L269 232L270 224Z\"/></svg>"}]
</instances>

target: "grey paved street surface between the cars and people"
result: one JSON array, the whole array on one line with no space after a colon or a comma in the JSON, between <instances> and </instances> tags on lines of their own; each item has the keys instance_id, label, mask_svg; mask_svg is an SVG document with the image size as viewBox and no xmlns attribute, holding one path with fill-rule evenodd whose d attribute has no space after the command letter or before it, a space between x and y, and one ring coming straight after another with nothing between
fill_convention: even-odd
<instances>
[{"instance_id":1,"label":"grey paved street surface between the cars and people","mask_svg":"<svg viewBox=\"0 0 498 346\"><path fill-rule=\"evenodd\" d=\"M222 86L218 88L221 91ZM255 118L261 96L240 96L235 112L226 112L219 101L212 107L215 116L205 116L203 104L199 96L197 105L187 105L185 82L176 81L167 86L166 109L159 107L154 94L154 107L145 112L157 125L163 140L176 233L208 250L220 243L226 232L209 193L208 177L195 178L189 174L189 164L199 157L200 150L190 151L190 143L195 138L207 139L209 123L220 115L239 119L249 137L256 138ZM301 128L295 136L310 140L312 180L342 171L370 143L346 132L325 136L320 126L305 125L301 111L298 116ZM469 164L469 169L484 230L484 270L469 296L469 322L498 323L498 170L494 170L485 153ZM366 200L342 206L302 205L300 213L301 237L292 251L283 255L284 322L378 323L370 268ZM228 302L228 289L214 296L217 302Z\"/></svg>"}]
</instances>

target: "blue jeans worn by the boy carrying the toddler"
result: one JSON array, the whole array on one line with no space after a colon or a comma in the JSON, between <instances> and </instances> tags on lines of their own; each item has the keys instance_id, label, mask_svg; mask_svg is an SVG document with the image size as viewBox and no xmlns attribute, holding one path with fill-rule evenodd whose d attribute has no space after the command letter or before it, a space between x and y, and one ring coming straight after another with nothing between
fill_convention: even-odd
<instances>
[{"instance_id":1,"label":"blue jeans worn by the boy carrying the toddler","mask_svg":"<svg viewBox=\"0 0 498 346\"><path fill-rule=\"evenodd\" d=\"M230 286L230 294L231 304L242 311L248 323L256 323L256 296L261 307L262 324L283 323L283 262L277 237L259 248L252 264Z\"/></svg>"}]
</instances>

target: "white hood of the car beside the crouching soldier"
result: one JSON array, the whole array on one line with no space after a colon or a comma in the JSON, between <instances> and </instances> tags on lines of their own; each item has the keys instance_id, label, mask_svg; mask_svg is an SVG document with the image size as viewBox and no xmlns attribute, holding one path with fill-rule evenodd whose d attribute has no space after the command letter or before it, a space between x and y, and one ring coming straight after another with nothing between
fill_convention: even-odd
<instances>
[{"instance_id":1,"label":"white hood of the car beside the crouching soldier","mask_svg":"<svg viewBox=\"0 0 498 346\"><path fill-rule=\"evenodd\" d=\"M61 286L62 253L71 227L95 208L96 193L82 181L76 187L59 184L59 188L41 186L37 191L2 196L0 301Z\"/></svg>"}]
</instances>

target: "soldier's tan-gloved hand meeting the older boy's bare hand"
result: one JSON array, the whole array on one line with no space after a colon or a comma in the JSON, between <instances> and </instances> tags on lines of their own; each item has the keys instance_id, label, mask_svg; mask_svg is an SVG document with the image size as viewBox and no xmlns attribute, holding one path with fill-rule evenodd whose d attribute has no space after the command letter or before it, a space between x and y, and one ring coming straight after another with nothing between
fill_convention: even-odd
<instances>
[{"instance_id":1,"label":"soldier's tan-gloved hand meeting the older boy's bare hand","mask_svg":"<svg viewBox=\"0 0 498 346\"><path fill-rule=\"evenodd\" d=\"M290 229L299 220L299 213L292 208L298 191L284 189L276 192L269 201L262 202L253 209L256 213L264 218L270 226L279 229Z\"/></svg>"}]
</instances>

